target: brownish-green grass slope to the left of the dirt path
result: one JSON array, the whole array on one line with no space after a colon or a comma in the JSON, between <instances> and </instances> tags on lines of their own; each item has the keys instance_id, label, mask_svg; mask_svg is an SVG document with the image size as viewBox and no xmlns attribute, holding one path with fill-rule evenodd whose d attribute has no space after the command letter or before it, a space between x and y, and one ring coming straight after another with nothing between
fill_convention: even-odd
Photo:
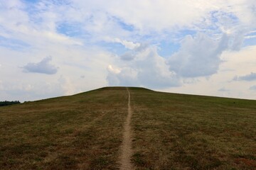
<instances>
[{"instance_id":1,"label":"brownish-green grass slope to the left of the dirt path","mask_svg":"<svg viewBox=\"0 0 256 170\"><path fill-rule=\"evenodd\" d=\"M0 169L117 169L127 89L0 108Z\"/></svg>"}]
</instances>

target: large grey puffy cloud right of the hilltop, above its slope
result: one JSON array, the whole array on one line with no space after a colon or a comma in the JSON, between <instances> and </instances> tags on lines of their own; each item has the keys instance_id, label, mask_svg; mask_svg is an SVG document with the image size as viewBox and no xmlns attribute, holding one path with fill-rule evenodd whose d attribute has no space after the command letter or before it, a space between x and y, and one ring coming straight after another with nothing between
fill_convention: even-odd
<instances>
[{"instance_id":1,"label":"large grey puffy cloud right of the hilltop, above its slope","mask_svg":"<svg viewBox=\"0 0 256 170\"><path fill-rule=\"evenodd\" d=\"M171 71L181 77L205 77L215 74L221 62L221 53L228 49L228 36L223 34L220 40L198 33L194 38L186 36L181 49L169 58Z\"/></svg>"}]
</instances>

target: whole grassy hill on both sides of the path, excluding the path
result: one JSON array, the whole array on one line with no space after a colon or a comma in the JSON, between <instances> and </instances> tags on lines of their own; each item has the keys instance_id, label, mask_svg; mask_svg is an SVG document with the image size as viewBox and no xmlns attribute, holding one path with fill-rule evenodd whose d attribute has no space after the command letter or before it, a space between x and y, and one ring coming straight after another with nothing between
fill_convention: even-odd
<instances>
[{"instance_id":1,"label":"whole grassy hill on both sides of the path, excluding the path","mask_svg":"<svg viewBox=\"0 0 256 170\"><path fill-rule=\"evenodd\" d=\"M256 101L129 88L136 169L256 169ZM0 108L1 169L118 169L127 89Z\"/></svg>"}]
</instances>

